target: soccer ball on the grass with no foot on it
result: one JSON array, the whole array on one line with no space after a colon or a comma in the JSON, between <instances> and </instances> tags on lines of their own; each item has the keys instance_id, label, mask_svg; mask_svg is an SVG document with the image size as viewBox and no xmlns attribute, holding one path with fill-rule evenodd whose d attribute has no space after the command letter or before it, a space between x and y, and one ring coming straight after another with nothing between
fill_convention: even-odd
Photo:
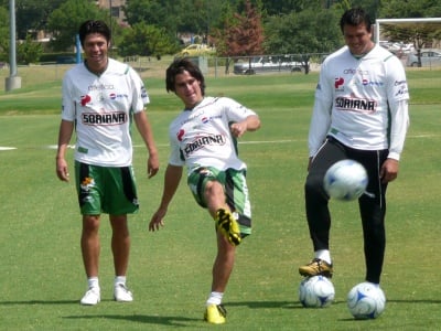
<instances>
[{"instance_id":1,"label":"soccer ball on the grass with no foot on it","mask_svg":"<svg viewBox=\"0 0 441 331\"><path fill-rule=\"evenodd\" d=\"M385 306L384 291L372 282L361 282L347 295L347 308L358 320L376 319L385 310Z\"/></svg>"}]
</instances>

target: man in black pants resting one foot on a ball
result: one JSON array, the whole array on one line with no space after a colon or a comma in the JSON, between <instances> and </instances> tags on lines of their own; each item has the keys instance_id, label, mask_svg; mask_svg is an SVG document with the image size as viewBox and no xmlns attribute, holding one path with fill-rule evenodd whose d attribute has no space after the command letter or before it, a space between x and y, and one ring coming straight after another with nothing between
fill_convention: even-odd
<instances>
[{"instance_id":1,"label":"man in black pants resting one foot on a ball","mask_svg":"<svg viewBox=\"0 0 441 331\"><path fill-rule=\"evenodd\" d=\"M323 189L326 170L343 159L361 162L368 173L358 200L364 235L365 280L379 285L386 234L386 189L398 174L409 124L408 86L400 61L372 41L368 14L346 11L340 25L346 46L323 62L309 134L309 173L304 186L314 258L302 276L332 277L331 215Z\"/></svg>"}]
</instances>

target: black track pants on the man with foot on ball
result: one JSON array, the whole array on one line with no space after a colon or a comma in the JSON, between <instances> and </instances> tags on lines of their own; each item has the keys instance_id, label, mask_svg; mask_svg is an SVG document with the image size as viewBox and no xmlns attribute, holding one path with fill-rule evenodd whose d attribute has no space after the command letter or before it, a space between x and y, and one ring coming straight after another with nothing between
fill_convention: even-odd
<instances>
[{"instance_id":1,"label":"black track pants on the man with foot on ball","mask_svg":"<svg viewBox=\"0 0 441 331\"><path fill-rule=\"evenodd\" d=\"M340 143L334 138L329 138L314 157L304 185L306 218L313 248L330 249L331 214L329 196L323 189L324 174L332 164L343 159L353 159L366 168L369 178L367 194L358 199L366 261L365 279L377 284L381 275L386 247L387 184L381 184L379 169L387 154L388 150L356 150Z\"/></svg>"}]
</instances>

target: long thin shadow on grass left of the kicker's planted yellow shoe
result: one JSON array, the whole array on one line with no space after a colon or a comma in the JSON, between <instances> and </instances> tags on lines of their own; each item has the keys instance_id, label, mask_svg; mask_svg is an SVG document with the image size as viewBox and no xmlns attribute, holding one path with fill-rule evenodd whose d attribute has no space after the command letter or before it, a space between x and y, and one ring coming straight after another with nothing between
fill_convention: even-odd
<instances>
[{"instance_id":1,"label":"long thin shadow on grass left of the kicker's planted yellow shoe","mask_svg":"<svg viewBox=\"0 0 441 331\"><path fill-rule=\"evenodd\" d=\"M93 320L93 319L109 319L118 321L130 321L146 324L161 324L169 327L187 327L189 322L201 322L202 319L192 319L178 316L147 316L147 314L82 314L82 316L66 316L63 319L78 319L78 320Z\"/></svg>"}]
</instances>

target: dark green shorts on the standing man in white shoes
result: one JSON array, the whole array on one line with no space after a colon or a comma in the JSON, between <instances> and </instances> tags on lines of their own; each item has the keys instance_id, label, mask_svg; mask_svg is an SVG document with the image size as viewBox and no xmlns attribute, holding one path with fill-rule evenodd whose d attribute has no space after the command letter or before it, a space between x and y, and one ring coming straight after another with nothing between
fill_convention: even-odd
<instances>
[{"instance_id":1,"label":"dark green shorts on the standing man in white shoes","mask_svg":"<svg viewBox=\"0 0 441 331\"><path fill-rule=\"evenodd\" d=\"M125 215L139 210L132 167L99 167L75 161L75 180L83 215Z\"/></svg>"}]
</instances>

